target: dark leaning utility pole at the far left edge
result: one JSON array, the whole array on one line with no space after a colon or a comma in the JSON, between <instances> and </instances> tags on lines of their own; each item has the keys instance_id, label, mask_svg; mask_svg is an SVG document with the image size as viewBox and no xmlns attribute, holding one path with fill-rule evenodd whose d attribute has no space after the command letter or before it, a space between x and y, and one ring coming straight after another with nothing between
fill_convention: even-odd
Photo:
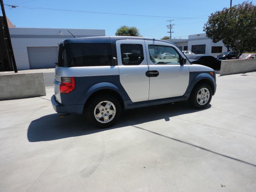
<instances>
[{"instance_id":1,"label":"dark leaning utility pole at the far left edge","mask_svg":"<svg viewBox=\"0 0 256 192\"><path fill-rule=\"evenodd\" d=\"M13 68L14 72L18 73L15 58L14 58L14 53L13 53L13 49L12 49L12 42L11 42L10 32L9 32L9 28L8 28L8 24L7 24L7 19L6 19L6 14L5 14L5 10L4 10L3 0L0 0L0 4L1 4L1 9L2 9L2 14L3 14L4 33L5 33L5 36L6 36L4 38L4 40L5 40L6 45L7 45L6 46L7 52L10 53L10 56L8 56L9 62L10 62L10 65L12 65L12 68Z\"/></svg>"}]
</instances>

